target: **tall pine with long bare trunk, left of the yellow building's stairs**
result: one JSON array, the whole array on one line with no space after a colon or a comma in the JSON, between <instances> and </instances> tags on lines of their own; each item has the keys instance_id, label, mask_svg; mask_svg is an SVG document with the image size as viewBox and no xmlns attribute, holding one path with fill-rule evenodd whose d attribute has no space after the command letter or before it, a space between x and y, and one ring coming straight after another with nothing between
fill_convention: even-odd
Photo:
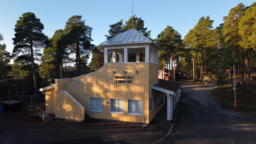
<instances>
[{"instance_id":1,"label":"tall pine with long bare trunk, left of the yellow building's stairs","mask_svg":"<svg viewBox=\"0 0 256 144\"><path fill-rule=\"evenodd\" d=\"M40 55L39 48L46 46L47 36L42 33L43 29L44 26L40 22L40 19L36 18L32 12L26 12L22 17L19 17L19 20L17 20L17 24L14 29L16 32L14 34L15 38L12 38L14 41L13 44L15 45L12 51L14 55L17 57L19 54L23 54L30 57L36 94L38 93L38 88L34 59Z\"/></svg>"}]
</instances>

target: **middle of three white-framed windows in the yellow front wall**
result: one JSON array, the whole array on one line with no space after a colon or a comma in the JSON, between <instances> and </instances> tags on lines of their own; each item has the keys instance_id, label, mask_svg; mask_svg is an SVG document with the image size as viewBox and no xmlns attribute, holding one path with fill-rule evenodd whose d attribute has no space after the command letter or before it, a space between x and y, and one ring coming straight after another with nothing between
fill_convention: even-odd
<instances>
[{"instance_id":1,"label":"middle of three white-framed windows in the yellow front wall","mask_svg":"<svg viewBox=\"0 0 256 144\"><path fill-rule=\"evenodd\" d=\"M124 99L110 98L110 113L124 114Z\"/></svg>"}]
</instances>

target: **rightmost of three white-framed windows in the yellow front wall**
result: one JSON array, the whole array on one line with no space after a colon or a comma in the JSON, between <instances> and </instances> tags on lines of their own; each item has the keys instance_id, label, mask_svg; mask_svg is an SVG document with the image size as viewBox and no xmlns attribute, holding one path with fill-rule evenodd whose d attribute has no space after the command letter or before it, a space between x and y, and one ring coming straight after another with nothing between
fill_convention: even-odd
<instances>
[{"instance_id":1,"label":"rightmost of three white-framed windows in the yellow front wall","mask_svg":"<svg viewBox=\"0 0 256 144\"><path fill-rule=\"evenodd\" d=\"M143 114L142 100L129 100L128 99L128 114L139 115Z\"/></svg>"}]
</instances>

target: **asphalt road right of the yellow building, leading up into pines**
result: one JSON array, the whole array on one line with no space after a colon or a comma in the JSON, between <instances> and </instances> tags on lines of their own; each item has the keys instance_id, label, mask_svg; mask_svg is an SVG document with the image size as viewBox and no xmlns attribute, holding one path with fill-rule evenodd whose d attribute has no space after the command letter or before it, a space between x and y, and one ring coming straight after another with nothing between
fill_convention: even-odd
<instances>
[{"instance_id":1,"label":"asphalt road right of the yellow building, leading up into pines","mask_svg":"<svg viewBox=\"0 0 256 144\"><path fill-rule=\"evenodd\" d=\"M232 111L214 98L214 84L182 84L177 126L168 136L174 144L256 144L256 117Z\"/></svg>"}]
</instances>

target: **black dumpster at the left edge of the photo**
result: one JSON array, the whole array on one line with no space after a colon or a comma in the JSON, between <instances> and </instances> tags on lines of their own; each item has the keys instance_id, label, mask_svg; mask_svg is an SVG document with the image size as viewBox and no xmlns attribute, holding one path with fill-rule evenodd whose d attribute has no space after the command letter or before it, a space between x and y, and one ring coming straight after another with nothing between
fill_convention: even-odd
<instances>
[{"instance_id":1,"label":"black dumpster at the left edge of the photo","mask_svg":"<svg viewBox=\"0 0 256 144\"><path fill-rule=\"evenodd\" d=\"M2 101L0 103L3 106L3 110L6 110L6 111L15 112L18 110L22 110L23 102L21 101L9 100L9 101Z\"/></svg>"}]
</instances>

